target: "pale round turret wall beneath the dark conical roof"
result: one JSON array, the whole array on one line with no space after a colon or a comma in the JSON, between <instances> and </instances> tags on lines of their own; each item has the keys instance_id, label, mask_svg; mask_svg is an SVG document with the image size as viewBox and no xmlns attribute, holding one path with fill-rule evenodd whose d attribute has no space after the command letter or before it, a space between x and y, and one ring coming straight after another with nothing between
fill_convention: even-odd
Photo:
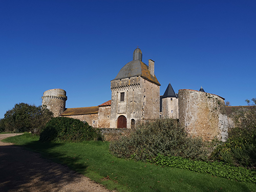
<instances>
[{"instance_id":1,"label":"pale round turret wall beneath the dark conical roof","mask_svg":"<svg viewBox=\"0 0 256 192\"><path fill-rule=\"evenodd\" d=\"M166 97L162 99L162 117L179 119L178 98Z\"/></svg>"}]
</instances>

